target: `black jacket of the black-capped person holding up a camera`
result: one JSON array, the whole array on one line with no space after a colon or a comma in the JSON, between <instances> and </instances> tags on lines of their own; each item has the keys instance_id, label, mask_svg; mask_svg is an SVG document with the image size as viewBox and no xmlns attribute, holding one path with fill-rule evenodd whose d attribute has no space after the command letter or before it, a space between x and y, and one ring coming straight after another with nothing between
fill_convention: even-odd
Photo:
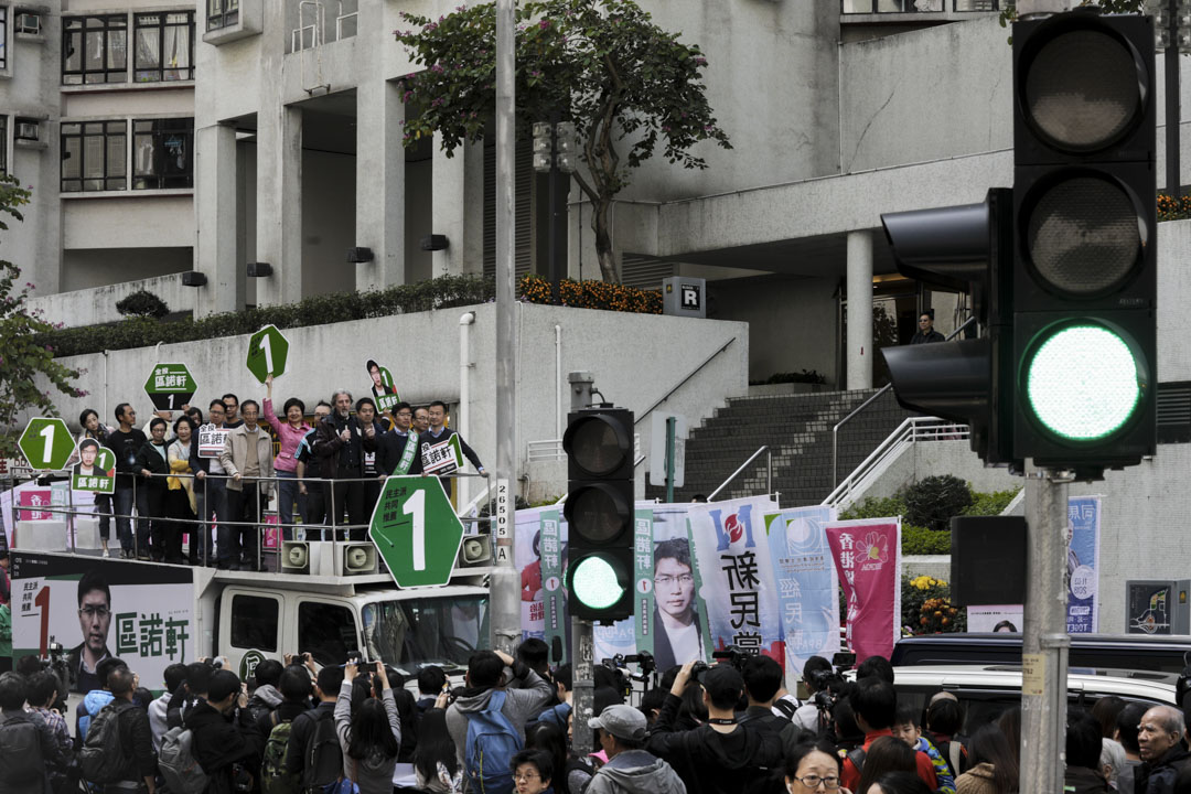
<instances>
[{"instance_id":1,"label":"black jacket of the black-capped person holding up a camera","mask_svg":"<svg viewBox=\"0 0 1191 794\"><path fill-rule=\"evenodd\" d=\"M781 742L768 731L741 725L731 733L719 733L711 725L675 731L681 702L666 695L646 749L674 768L690 794L737 794L781 763Z\"/></svg>"}]
</instances>

